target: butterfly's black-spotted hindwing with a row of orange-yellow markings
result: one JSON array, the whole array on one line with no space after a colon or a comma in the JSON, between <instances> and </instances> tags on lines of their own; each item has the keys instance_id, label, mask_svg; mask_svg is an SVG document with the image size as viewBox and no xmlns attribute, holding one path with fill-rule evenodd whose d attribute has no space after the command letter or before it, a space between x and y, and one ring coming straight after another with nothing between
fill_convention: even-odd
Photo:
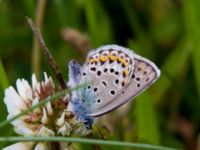
<instances>
[{"instance_id":1,"label":"butterfly's black-spotted hindwing with a row of orange-yellow markings","mask_svg":"<svg viewBox=\"0 0 200 150\"><path fill-rule=\"evenodd\" d=\"M127 49L116 45L103 46L89 53L80 83L91 84L79 95L89 114L99 110L103 113L104 108L129 85L134 69L133 56Z\"/></svg>"}]
</instances>

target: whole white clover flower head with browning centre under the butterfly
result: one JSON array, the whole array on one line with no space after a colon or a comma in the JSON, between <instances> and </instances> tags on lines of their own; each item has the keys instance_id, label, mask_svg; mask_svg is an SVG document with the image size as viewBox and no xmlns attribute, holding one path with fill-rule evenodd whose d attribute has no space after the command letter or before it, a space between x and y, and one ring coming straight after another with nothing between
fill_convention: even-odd
<instances>
[{"instance_id":1,"label":"whole white clover flower head with browning centre under the butterfly","mask_svg":"<svg viewBox=\"0 0 200 150\"><path fill-rule=\"evenodd\" d=\"M32 85L29 85L25 79L18 79L16 82L17 90L12 86L5 90L4 102L8 110L7 119L22 113L59 91L55 89L53 80L46 73L44 73L44 78L44 81L38 82L33 74ZM11 122L15 132L23 136L45 137L88 134L90 130L85 127L83 122L76 119L68 99L67 94L15 119ZM19 142L4 148L4 150L45 150L48 149L48 146L47 142Z\"/></svg>"}]
</instances>

